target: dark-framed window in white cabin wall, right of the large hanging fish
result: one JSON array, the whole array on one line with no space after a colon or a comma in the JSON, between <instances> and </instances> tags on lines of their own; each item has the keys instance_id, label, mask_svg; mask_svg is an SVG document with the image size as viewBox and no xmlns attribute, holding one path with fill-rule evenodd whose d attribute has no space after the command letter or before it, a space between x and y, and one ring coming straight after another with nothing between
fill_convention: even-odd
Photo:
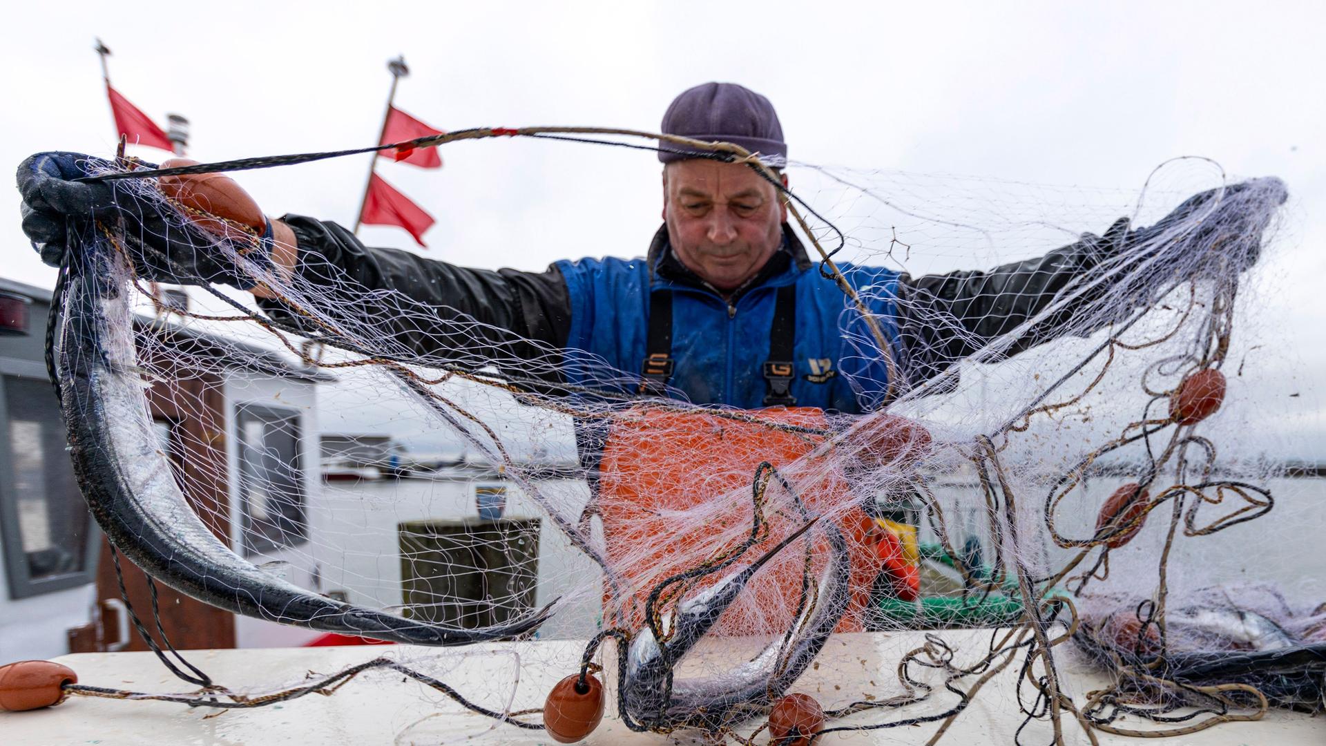
<instances>
[{"instance_id":1,"label":"dark-framed window in white cabin wall, right of the large hanging fish","mask_svg":"<svg viewBox=\"0 0 1326 746\"><path fill-rule=\"evenodd\" d=\"M302 544L309 527L298 410L240 405L235 422L244 552Z\"/></svg>"}]
</instances>

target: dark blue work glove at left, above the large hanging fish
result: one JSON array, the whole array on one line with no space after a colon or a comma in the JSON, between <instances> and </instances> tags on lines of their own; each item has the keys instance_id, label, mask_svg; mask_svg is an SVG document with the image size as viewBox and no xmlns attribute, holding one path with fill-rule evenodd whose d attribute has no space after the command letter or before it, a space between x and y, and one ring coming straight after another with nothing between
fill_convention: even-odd
<instances>
[{"instance_id":1,"label":"dark blue work glove at left, above the large hanging fish","mask_svg":"<svg viewBox=\"0 0 1326 746\"><path fill-rule=\"evenodd\" d=\"M42 261L58 267L69 239L91 238L99 220L113 231L123 224L125 250L146 280L252 287L216 247L216 238L175 215L149 191L150 185L73 181L109 166L109 161L81 153L37 153L19 165L23 232Z\"/></svg>"}]
</instances>

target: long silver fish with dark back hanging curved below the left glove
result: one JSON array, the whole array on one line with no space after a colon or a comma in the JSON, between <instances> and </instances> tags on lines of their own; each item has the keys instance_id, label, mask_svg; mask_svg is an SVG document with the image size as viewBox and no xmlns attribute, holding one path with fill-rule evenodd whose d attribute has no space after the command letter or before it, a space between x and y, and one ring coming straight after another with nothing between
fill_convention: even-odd
<instances>
[{"instance_id":1,"label":"long silver fish with dark back hanging curved below the left glove","mask_svg":"<svg viewBox=\"0 0 1326 746\"><path fill-rule=\"evenodd\" d=\"M549 608L483 629L410 620L310 593L232 552L188 506L150 429L118 255L103 242L69 255L58 380L74 474L107 539L150 576L244 616L415 645L512 637L548 619Z\"/></svg>"}]
</instances>

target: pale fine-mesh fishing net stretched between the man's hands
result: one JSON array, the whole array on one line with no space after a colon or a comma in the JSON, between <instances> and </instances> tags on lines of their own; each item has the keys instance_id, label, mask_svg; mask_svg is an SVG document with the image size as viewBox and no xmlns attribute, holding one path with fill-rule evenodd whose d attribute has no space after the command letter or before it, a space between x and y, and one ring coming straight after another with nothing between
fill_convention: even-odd
<instances>
[{"instance_id":1,"label":"pale fine-mesh fishing net stretched between the man's hands","mask_svg":"<svg viewBox=\"0 0 1326 746\"><path fill-rule=\"evenodd\" d=\"M467 133L419 145L549 137ZM1284 186L1203 159L1131 190L786 173L813 271L845 291L841 358L806 374L846 370L826 385L866 414L660 396L639 370L520 338L459 300L428 305L312 260L286 275L257 231L178 188L109 182L170 219L99 223L65 258L57 380L72 421L102 423L72 427L80 477L89 491L97 469L127 475L146 506L90 496L94 512L131 514L110 516L117 548L261 619L241 625L446 645L378 648L362 668L408 672L501 721L495 738L565 719L520 689L532 668L605 677L633 730L736 741L762 738L805 672L862 666L873 689L815 693L826 730L951 721L1013 664L1033 723L1020 739L1071 721L1127 733L1123 714L1187 733L1268 702L1319 709L1323 589L1286 571L1293 547L1268 542L1303 503L1268 458L1276 423L1242 404L1284 362L1256 313L1274 287L1256 264L1276 247ZM269 300L198 281L188 309L171 305L145 279L171 263L163 238L223 258L231 284ZM1028 285L1048 300L1025 317L996 305L973 319L951 284L873 269L1034 269L1065 246L1055 261L1079 268ZM320 431L339 435L322 453ZM321 483L314 462L361 481ZM162 516L188 551L164 552ZM826 642L945 627L987 632L874 661ZM499 638L516 641L471 646ZM1071 656L1111 686L1073 692L1057 674ZM358 669L342 674L175 698L284 701Z\"/></svg>"}]
</instances>

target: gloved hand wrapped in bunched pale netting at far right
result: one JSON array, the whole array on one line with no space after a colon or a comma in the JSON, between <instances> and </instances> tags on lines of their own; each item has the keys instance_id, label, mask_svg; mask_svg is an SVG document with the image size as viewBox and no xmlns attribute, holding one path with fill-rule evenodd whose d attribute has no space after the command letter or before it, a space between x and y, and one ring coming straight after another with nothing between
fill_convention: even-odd
<instances>
[{"instance_id":1,"label":"gloved hand wrapped in bunched pale netting at far right","mask_svg":"<svg viewBox=\"0 0 1326 746\"><path fill-rule=\"evenodd\" d=\"M1155 240L1176 261L1196 261L1193 273L1242 272L1261 258L1262 232L1285 203L1285 182L1249 179L1207 190L1185 199L1132 240Z\"/></svg>"}]
</instances>

